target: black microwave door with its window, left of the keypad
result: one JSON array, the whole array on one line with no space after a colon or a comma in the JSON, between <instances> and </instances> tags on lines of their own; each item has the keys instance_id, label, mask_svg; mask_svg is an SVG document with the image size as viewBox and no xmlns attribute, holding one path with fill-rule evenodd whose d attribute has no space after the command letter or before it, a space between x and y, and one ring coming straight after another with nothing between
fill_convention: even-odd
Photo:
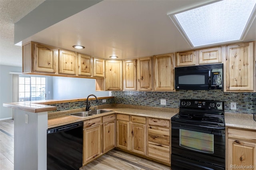
<instances>
[{"instance_id":1,"label":"black microwave door with its window, left of the keypad","mask_svg":"<svg viewBox=\"0 0 256 170\"><path fill-rule=\"evenodd\" d=\"M177 90L209 90L211 88L211 71L179 70L175 68L175 89Z\"/></svg>"}]
</instances>

